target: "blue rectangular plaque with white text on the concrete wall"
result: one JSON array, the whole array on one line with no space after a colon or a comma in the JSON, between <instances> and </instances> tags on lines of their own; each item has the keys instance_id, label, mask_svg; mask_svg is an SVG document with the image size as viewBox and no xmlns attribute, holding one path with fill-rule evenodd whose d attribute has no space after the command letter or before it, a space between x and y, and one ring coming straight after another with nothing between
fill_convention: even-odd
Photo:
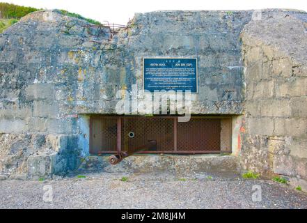
<instances>
[{"instance_id":1,"label":"blue rectangular plaque with white text on the concrete wall","mask_svg":"<svg viewBox=\"0 0 307 223\"><path fill-rule=\"evenodd\" d=\"M143 89L198 93L196 58L144 58Z\"/></svg>"}]
</instances>

